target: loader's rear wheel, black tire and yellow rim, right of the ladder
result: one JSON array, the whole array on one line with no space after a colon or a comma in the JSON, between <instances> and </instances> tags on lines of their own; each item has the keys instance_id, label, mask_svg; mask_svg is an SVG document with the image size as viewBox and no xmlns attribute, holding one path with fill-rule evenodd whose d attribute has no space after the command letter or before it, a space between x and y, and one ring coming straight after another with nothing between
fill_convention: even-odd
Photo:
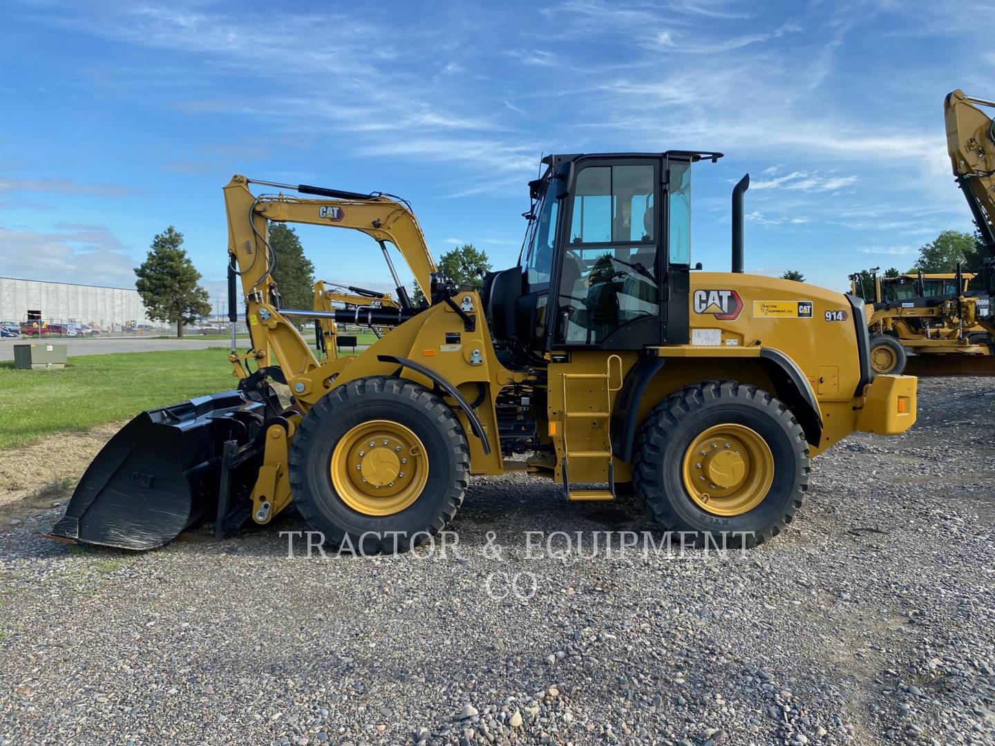
<instances>
[{"instance_id":1,"label":"loader's rear wheel, black tire and yellow rim, right of the ladder","mask_svg":"<svg viewBox=\"0 0 995 746\"><path fill-rule=\"evenodd\" d=\"M753 546L794 518L809 471L805 434L784 404L755 386L708 381L650 412L633 481L661 526L689 532L685 542L710 534L718 546Z\"/></svg>"}]
</instances>

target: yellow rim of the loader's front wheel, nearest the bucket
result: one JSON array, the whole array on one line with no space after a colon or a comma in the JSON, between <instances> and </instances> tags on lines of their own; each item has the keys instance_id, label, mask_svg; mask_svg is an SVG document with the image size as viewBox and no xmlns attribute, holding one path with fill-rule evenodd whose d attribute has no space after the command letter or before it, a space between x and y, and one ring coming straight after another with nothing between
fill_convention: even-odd
<instances>
[{"instance_id":1,"label":"yellow rim of the loader's front wheel, nearest the bucket","mask_svg":"<svg viewBox=\"0 0 995 746\"><path fill-rule=\"evenodd\" d=\"M331 483L342 501L363 515L393 515L425 489L429 459L411 430L390 420L357 425L331 453Z\"/></svg>"}]
</instances>

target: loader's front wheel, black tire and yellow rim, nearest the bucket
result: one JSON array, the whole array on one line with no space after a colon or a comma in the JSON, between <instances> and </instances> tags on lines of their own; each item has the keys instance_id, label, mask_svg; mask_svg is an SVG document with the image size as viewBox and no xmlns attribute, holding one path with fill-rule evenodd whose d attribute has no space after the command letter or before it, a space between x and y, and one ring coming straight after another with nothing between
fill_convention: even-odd
<instances>
[{"instance_id":1,"label":"loader's front wheel, black tire and yellow rim, nearest the bucket","mask_svg":"<svg viewBox=\"0 0 995 746\"><path fill-rule=\"evenodd\" d=\"M402 378L330 391L301 421L290 455L307 524L332 546L362 553L407 551L438 534L462 504L469 472L452 408Z\"/></svg>"}]
</instances>

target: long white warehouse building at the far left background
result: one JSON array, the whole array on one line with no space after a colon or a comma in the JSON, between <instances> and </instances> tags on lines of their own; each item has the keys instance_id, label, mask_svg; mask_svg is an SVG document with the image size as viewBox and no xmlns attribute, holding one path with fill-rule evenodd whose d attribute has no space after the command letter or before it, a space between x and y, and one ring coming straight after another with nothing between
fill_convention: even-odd
<instances>
[{"instance_id":1,"label":"long white warehouse building at the far left background","mask_svg":"<svg viewBox=\"0 0 995 746\"><path fill-rule=\"evenodd\" d=\"M50 323L120 329L150 323L133 287L0 278L0 321L27 321L38 312Z\"/></svg>"}]
</instances>

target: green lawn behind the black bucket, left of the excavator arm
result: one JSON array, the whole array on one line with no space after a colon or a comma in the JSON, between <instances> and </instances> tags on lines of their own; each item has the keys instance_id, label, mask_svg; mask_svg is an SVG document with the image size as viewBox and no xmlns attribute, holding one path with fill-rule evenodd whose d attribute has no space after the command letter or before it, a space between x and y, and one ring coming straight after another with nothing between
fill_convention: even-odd
<instances>
[{"instance_id":1,"label":"green lawn behind the black bucket, left of the excavator arm","mask_svg":"<svg viewBox=\"0 0 995 746\"><path fill-rule=\"evenodd\" d=\"M0 449L129 420L142 410L230 391L236 384L223 347L80 355L62 370L14 370L13 361L2 360Z\"/></svg>"}]
</instances>

